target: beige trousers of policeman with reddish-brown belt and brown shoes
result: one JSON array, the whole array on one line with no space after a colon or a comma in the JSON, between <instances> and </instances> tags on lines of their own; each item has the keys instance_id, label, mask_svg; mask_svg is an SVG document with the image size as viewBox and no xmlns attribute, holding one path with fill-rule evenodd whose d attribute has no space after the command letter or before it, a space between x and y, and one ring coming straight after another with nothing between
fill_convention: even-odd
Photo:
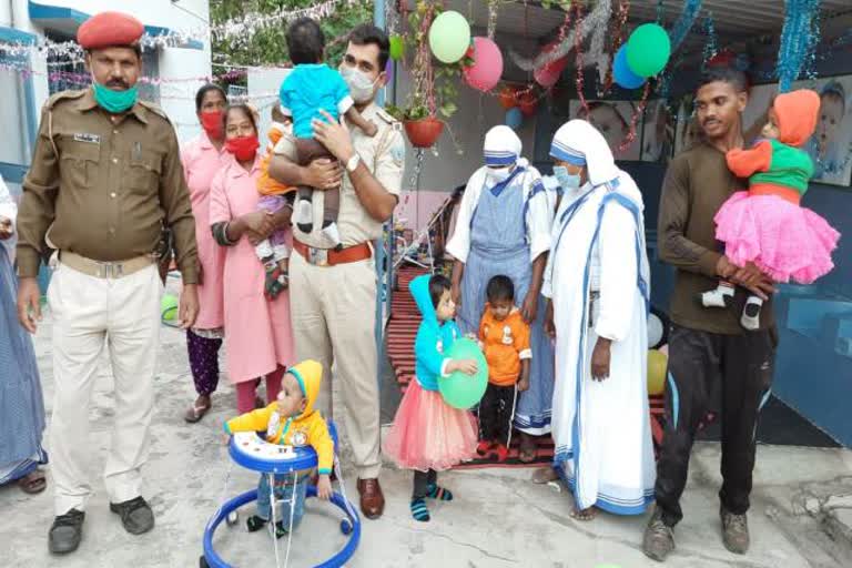
<instances>
[{"instance_id":1,"label":"beige trousers of policeman with reddish-brown belt and brown shoes","mask_svg":"<svg viewBox=\"0 0 852 568\"><path fill-rule=\"evenodd\" d=\"M378 477L379 416L375 337L376 271L372 260L314 266L290 260L290 310L296 358L323 364L317 408L332 416L332 374L346 412L345 434L359 479Z\"/></svg>"}]
</instances>

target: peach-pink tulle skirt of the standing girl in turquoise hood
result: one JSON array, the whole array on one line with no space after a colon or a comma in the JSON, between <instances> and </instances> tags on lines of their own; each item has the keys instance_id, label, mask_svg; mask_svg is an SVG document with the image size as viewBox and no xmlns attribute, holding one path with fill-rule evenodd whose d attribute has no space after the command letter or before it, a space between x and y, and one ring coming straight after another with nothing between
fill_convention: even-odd
<instances>
[{"instance_id":1,"label":"peach-pink tulle skirt of the standing girl in turquoise hood","mask_svg":"<svg viewBox=\"0 0 852 568\"><path fill-rule=\"evenodd\" d=\"M382 450L406 469L440 471L476 455L478 429L469 410L453 408L437 390L412 381Z\"/></svg>"}]
</instances>

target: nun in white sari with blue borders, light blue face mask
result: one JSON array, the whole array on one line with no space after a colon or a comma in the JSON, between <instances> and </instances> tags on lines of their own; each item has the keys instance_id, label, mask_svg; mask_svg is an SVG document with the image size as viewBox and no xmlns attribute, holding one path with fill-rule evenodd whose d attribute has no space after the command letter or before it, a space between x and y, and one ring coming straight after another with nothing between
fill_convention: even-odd
<instances>
[{"instance_id":1,"label":"nun in white sari with blue borders, light blue face mask","mask_svg":"<svg viewBox=\"0 0 852 568\"><path fill-rule=\"evenodd\" d=\"M564 124L550 155L562 190L542 291L556 332L554 466L575 518L640 515L655 481L642 195L586 121Z\"/></svg>"}]
</instances>

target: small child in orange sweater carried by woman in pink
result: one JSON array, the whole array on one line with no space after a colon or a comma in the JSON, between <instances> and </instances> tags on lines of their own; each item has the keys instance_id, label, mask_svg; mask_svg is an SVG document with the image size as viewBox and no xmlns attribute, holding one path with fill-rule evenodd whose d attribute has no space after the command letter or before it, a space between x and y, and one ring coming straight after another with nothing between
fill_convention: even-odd
<instances>
[{"instance_id":1,"label":"small child in orange sweater carried by woman in pink","mask_svg":"<svg viewBox=\"0 0 852 568\"><path fill-rule=\"evenodd\" d=\"M295 187L285 185L270 175L270 161L284 132L288 130L292 121L284 115L281 106L272 108L272 125L270 126L270 142L266 144L266 153L261 159L261 175L257 179L257 192L261 201L257 209L267 213L277 213L282 207L293 209ZM268 239L257 243L254 247L257 257L266 267L266 283L264 294L270 300L275 300L290 282L290 248L284 239L284 230L275 231Z\"/></svg>"}]
</instances>

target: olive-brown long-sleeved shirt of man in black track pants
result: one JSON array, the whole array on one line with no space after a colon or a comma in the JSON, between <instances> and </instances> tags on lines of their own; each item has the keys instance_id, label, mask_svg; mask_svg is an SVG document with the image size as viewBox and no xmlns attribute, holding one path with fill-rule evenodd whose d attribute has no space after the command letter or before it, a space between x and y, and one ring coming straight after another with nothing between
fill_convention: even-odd
<instances>
[{"instance_id":1,"label":"olive-brown long-sleeved shirt of man in black track pants","mask_svg":"<svg viewBox=\"0 0 852 568\"><path fill-rule=\"evenodd\" d=\"M723 250L716 240L713 217L728 197L748 187L728 169L724 154L704 141L678 154L662 183L657 239L660 258L677 271L671 321L680 326L724 335L744 333L734 307L703 307L698 295L716 288L716 265ZM738 294L744 294L742 290ZM741 306L742 303L734 303ZM774 326L770 302L760 313L760 328Z\"/></svg>"}]
</instances>

